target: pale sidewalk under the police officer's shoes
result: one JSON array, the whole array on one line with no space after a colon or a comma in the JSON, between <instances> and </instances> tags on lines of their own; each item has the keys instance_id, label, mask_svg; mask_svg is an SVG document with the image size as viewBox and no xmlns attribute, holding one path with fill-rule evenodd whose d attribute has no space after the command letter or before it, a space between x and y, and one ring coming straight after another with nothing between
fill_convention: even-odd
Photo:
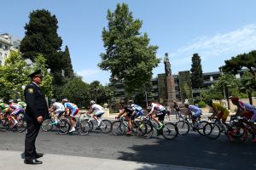
<instances>
[{"instance_id":1,"label":"pale sidewalk under the police officer's shoes","mask_svg":"<svg viewBox=\"0 0 256 170\"><path fill-rule=\"evenodd\" d=\"M38 159L43 161L41 165L26 165L21 158L21 152L0 150L0 169L4 170L45 170L45 169L61 169L61 170L185 170L185 169L204 169L199 167L181 167L164 164L151 164L137 161L120 161L91 157L79 156L60 156L45 154Z\"/></svg>"}]
</instances>

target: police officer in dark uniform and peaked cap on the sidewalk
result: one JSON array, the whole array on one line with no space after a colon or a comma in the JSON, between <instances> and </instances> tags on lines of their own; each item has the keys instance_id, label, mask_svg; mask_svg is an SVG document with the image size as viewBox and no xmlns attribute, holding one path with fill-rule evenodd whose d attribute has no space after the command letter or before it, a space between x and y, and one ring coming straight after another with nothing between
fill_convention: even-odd
<instances>
[{"instance_id":1,"label":"police officer in dark uniform and peaked cap on the sidewalk","mask_svg":"<svg viewBox=\"0 0 256 170\"><path fill-rule=\"evenodd\" d=\"M32 78L32 82L28 84L24 90L26 99L27 122L26 139L25 139L25 161L26 164L42 164L38 161L43 154L37 153L35 142L44 119L49 117L48 106L44 94L40 92L39 85L42 83L41 70L35 71L28 77Z\"/></svg>"}]
</instances>

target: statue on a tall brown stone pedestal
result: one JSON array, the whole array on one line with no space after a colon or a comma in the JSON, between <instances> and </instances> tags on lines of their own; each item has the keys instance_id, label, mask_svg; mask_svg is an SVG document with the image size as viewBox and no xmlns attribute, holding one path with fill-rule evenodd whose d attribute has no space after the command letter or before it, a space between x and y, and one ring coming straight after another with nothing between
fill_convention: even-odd
<instances>
[{"instance_id":1,"label":"statue on a tall brown stone pedestal","mask_svg":"<svg viewBox=\"0 0 256 170\"><path fill-rule=\"evenodd\" d=\"M164 64L166 71L166 105L173 105L173 100L176 100L175 82L174 77L172 77L171 63L167 53L165 54Z\"/></svg>"}]
</instances>

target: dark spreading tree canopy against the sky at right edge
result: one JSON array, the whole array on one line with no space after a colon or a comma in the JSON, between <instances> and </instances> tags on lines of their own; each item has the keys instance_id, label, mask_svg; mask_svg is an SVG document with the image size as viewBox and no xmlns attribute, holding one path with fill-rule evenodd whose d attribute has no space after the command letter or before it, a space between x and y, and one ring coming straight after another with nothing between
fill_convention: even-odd
<instances>
[{"instance_id":1,"label":"dark spreading tree canopy against the sky at right edge","mask_svg":"<svg viewBox=\"0 0 256 170\"><path fill-rule=\"evenodd\" d=\"M236 74L242 67L247 67L256 80L256 50L248 54L239 54L236 57L225 60L225 65L221 66L219 69L224 72Z\"/></svg>"}]
</instances>

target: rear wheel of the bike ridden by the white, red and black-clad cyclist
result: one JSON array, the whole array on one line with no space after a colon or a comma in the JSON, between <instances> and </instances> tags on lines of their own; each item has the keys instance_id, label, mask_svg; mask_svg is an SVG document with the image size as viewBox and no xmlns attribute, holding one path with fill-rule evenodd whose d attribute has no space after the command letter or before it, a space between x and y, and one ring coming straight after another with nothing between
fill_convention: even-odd
<instances>
[{"instance_id":1,"label":"rear wheel of the bike ridden by the white, red and black-clad cyclist","mask_svg":"<svg viewBox=\"0 0 256 170\"><path fill-rule=\"evenodd\" d=\"M177 137L177 127L172 122L166 122L165 127L162 130L162 135L165 139L172 140Z\"/></svg>"}]
</instances>

